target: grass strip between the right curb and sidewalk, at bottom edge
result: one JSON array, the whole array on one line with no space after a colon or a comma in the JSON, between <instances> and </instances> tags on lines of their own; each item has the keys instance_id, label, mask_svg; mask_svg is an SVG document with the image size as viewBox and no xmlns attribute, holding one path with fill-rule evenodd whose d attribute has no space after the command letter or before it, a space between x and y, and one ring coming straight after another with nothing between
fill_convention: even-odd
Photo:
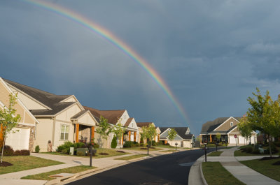
<instances>
[{"instance_id":1,"label":"grass strip between the right curb and sidewalk, at bottom edge","mask_svg":"<svg viewBox=\"0 0 280 185\"><path fill-rule=\"evenodd\" d=\"M228 170L225 170L220 162L203 162L202 170L209 185L244 185L243 182L240 182Z\"/></svg>"}]
</instances>

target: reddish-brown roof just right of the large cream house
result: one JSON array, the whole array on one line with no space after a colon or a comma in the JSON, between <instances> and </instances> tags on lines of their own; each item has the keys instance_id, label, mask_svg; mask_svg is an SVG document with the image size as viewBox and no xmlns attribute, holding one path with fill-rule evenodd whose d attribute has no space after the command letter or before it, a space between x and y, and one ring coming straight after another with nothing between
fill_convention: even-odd
<instances>
[{"instance_id":1,"label":"reddish-brown roof just right of the large cream house","mask_svg":"<svg viewBox=\"0 0 280 185\"><path fill-rule=\"evenodd\" d=\"M97 110L86 106L83 106L83 108L85 108L85 110L90 110L94 117L98 119L100 119L100 116L108 119L109 124L117 124L118 119L120 119L125 112L125 110Z\"/></svg>"}]
</instances>

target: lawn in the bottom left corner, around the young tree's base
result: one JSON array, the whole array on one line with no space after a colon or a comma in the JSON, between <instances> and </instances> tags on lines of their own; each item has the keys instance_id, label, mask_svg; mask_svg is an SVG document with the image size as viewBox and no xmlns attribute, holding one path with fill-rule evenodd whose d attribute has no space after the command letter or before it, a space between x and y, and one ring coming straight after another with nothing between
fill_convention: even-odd
<instances>
[{"instance_id":1,"label":"lawn in the bottom left corner, around the young tree's base","mask_svg":"<svg viewBox=\"0 0 280 185\"><path fill-rule=\"evenodd\" d=\"M63 164L58 161L52 161L34 156L3 156L3 161L12 163L13 165L0 167L0 174L41 168L49 165Z\"/></svg>"}]
</instances>

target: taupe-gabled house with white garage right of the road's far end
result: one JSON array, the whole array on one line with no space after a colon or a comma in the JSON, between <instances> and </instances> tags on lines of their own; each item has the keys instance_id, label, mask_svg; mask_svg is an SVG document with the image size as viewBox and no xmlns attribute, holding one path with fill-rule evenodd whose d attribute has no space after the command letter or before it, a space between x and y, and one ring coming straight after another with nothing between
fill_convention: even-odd
<instances>
[{"instance_id":1,"label":"taupe-gabled house with white garage right of the road's far end","mask_svg":"<svg viewBox=\"0 0 280 185\"><path fill-rule=\"evenodd\" d=\"M240 117L219 117L214 121L207 121L202 125L200 138L202 142L214 142L216 135L221 135L221 141L228 142L229 144L246 144L246 139L241 136L237 124ZM237 135L237 138L235 138ZM257 133L252 131L251 143L257 142ZM249 141L250 142L250 141Z\"/></svg>"}]
</instances>

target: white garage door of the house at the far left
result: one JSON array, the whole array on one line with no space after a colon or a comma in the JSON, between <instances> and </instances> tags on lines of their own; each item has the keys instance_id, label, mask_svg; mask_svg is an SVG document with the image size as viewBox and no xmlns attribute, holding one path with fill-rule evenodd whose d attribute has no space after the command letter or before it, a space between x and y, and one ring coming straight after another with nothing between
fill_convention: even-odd
<instances>
[{"instance_id":1,"label":"white garage door of the house at the far left","mask_svg":"<svg viewBox=\"0 0 280 185\"><path fill-rule=\"evenodd\" d=\"M29 149L30 128L14 128L15 133L9 133L6 138L6 145L13 150Z\"/></svg>"}]
</instances>

